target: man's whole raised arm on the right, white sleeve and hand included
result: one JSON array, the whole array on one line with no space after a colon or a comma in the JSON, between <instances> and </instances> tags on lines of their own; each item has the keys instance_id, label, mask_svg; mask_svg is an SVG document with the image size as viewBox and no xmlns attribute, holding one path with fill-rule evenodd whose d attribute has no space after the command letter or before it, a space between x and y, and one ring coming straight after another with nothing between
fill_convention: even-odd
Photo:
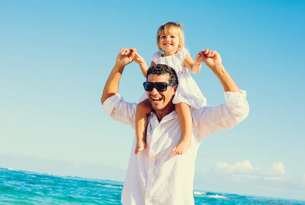
<instances>
[{"instance_id":1,"label":"man's whole raised arm on the right, white sleeve and hand included","mask_svg":"<svg viewBox=\"0 0 305 205\"><path fill-rule=\"evenodd\" d=\"M217 130L230 129L243 121L249 113L246 92L241 92L222 65L221 56L212 50L202 50L196 55L218 77L225 91L227 104L205 106L196 112L195 122L199 128L199 140Z\"/></svg>"}]
</instances>

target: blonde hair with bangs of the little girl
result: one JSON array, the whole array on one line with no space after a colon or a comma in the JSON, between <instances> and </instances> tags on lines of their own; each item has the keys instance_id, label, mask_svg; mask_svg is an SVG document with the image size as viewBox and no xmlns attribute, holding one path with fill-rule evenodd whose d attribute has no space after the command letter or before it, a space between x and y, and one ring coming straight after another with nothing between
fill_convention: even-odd
<instances>
[{"instance_id":1,"label":"blonde hair with bangs of the little girl","mask_svg":"<svg viewBox=\"0 0 305 205\"><path fill-rule=\"evenodd\" d=\"M179 37L179 48L185 47L185 37L184 37L184 31L183 31L183 25L178 22L166 22L163 25L160 26L157 32L157 47L159 51L162 51L162 48L159 44L159 39L162 34L177 34Z\"/></svg>"}]
</instances>

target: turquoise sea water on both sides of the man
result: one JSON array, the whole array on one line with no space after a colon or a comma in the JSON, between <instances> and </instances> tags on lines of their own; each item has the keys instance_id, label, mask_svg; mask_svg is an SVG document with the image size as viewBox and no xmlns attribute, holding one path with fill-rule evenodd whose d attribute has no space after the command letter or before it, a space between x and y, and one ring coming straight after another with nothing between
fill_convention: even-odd
<instances>
[{"instance_id":1,"label":"turquoise sea water on both sides of the man","mask_svg":"<svg viewBox=\"0 0 305 205\"><path fill-rule=\"evenodd\" d=\"M0 204L121 204L123 183L0 168ZM194 191L195 204L305 204L305 201Z\"/></svg>"}]
</instances>

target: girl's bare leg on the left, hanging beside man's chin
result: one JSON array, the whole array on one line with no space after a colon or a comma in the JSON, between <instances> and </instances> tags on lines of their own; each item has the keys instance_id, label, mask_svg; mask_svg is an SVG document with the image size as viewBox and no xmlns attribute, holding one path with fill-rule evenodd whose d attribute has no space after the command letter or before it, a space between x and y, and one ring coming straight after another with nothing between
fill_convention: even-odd
<instances>
[{"instance_id":1,"label":"girl's bare leg on the left, hanging beside man's chin","mask_svg":"<svg viewBox=\"0 0 305 205\"><path fill-rule=\"evenodd\" d=\"M153 111L153 107L148 99L143 100L137 105L136 109L136 137L137 144L135 154L138 155L146 148L145 135L147 127L147 114Z\"/></svg>"}]
</instances>

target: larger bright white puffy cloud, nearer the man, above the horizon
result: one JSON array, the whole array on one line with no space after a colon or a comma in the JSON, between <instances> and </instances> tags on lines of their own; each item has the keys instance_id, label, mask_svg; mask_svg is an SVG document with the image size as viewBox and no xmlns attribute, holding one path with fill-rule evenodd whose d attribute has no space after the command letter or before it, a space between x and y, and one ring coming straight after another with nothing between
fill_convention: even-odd
<instances>
[{"instance_id":1,"label":"larger bright white puffy cloud, nearer the man, above the horizon","mask_svg":"<svg viewBox=\"0 0 305 205\"><path fill-rule=\"evenodd\" d=\"M232 172L243 173L254 170L249 160L242 160L241 162L235 162L235 164L228 164L227 162L218 162L216 163L215 169L217 172L220 173L232 173Z\"/></svg>"}]
</instances>

